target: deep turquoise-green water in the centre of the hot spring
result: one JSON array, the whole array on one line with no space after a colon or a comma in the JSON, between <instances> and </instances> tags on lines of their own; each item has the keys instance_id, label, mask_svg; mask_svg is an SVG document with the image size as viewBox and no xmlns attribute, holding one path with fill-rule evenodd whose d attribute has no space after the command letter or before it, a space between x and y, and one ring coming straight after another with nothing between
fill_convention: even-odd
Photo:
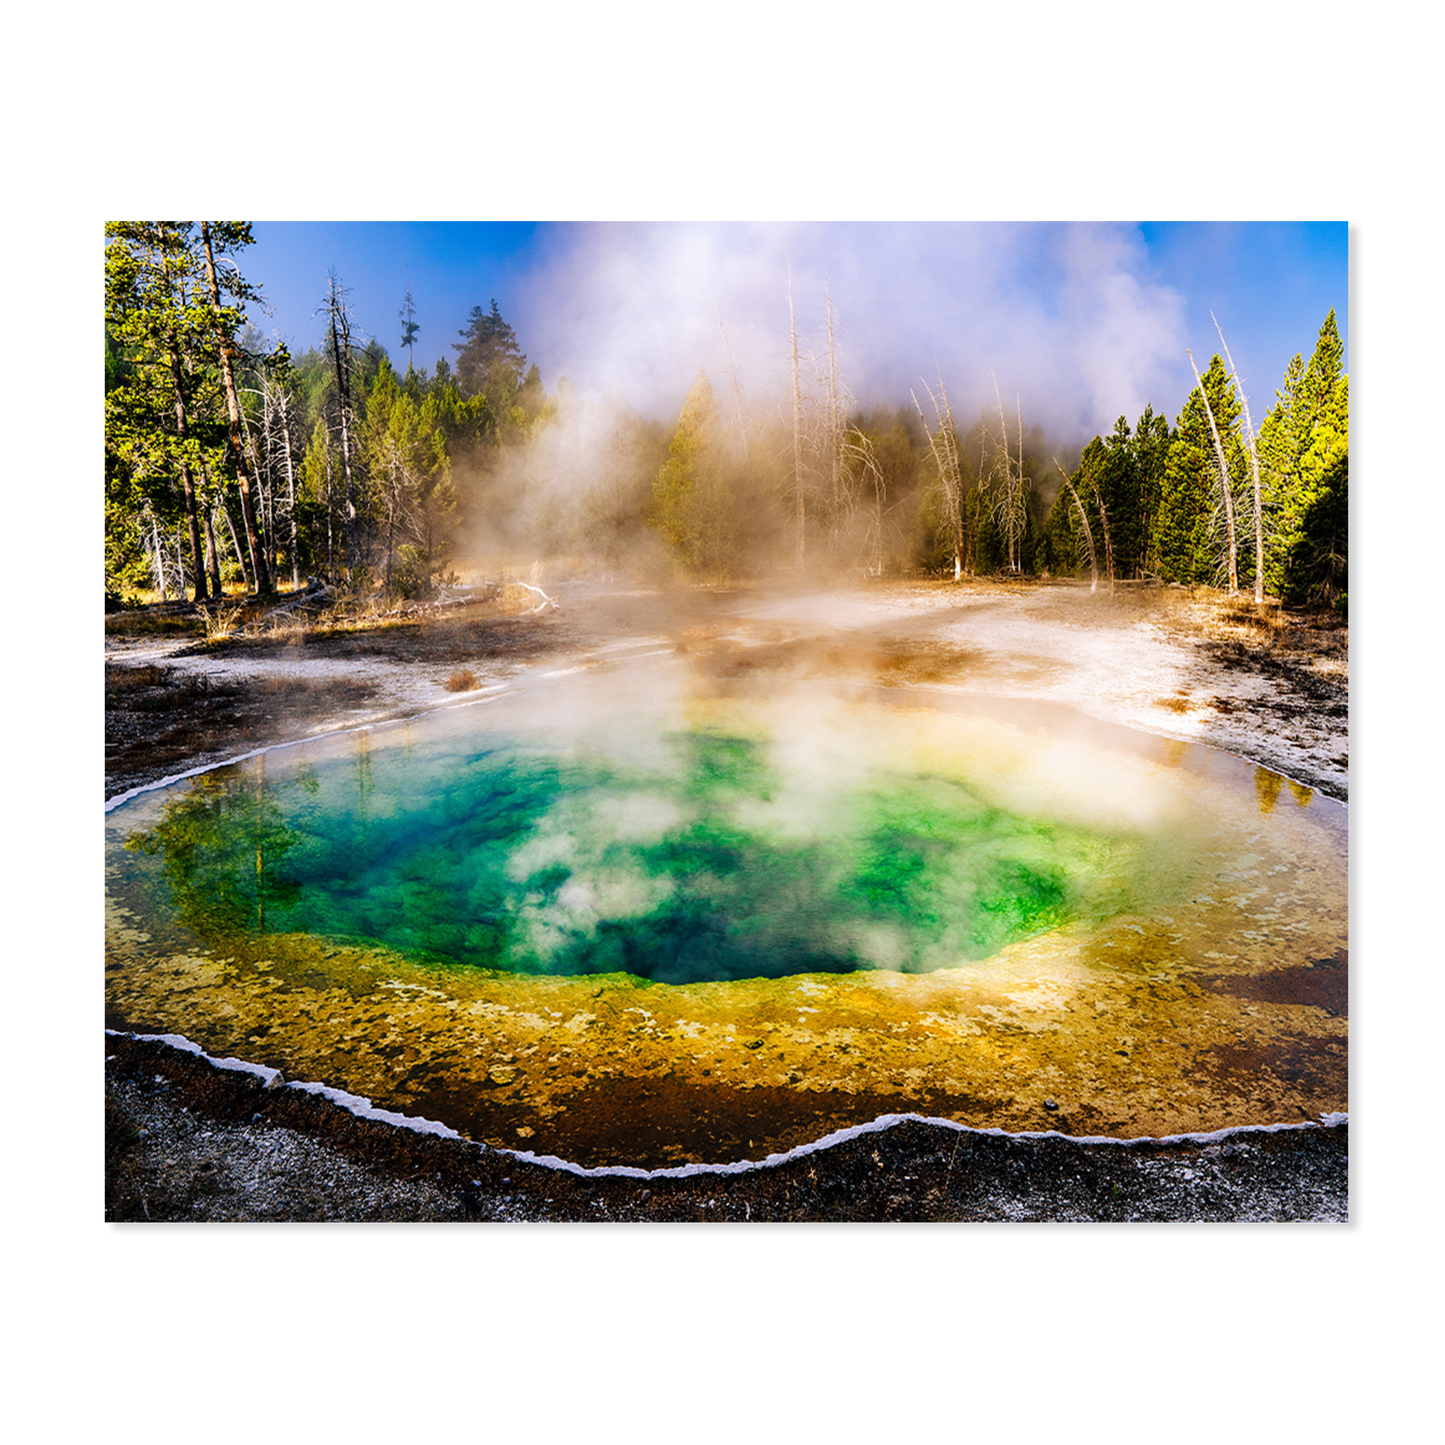
<instances>
[{"instance_id":1,"label":"deep turquoise-green water in the centre of the hot spring","mask_svg":"<svg viewBox=\"0 0 1445 1445\"><path fill-rule=\"evenodd\" d=\"M208 938L691 983L987 958L1123 906L1131 844L958 776L799 776L747 728L617 749L454 720L207 773L127 848Z\"/></svg>"}]
</instances>

